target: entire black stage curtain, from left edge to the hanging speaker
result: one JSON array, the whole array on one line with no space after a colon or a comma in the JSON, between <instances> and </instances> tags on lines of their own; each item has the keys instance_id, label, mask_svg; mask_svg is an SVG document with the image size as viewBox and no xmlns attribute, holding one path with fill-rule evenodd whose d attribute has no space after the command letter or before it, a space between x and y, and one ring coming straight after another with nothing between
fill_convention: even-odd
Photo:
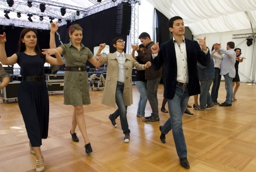
<instances>
[{"instance_id":1,"label":"entire black stage curtain, from left edge to the hanging speaker","mask_svg":"<svg viewBox=\"0 0 256 172\"><path fill-rule=\"evenodd\" d=\"M116 51L112 46L112 40L116 37L121 37L124 41L127 41L127 35L116 33L117 6L86 16L70 24L74 23L80 24L83 28L82 43L92 52L94 51L94 47L99 46L101 43L110 45L110 52ZM14 27L14 29L12 29L11 26L0 25L0 33L6 33L7 42L5 44L5 50L7 56L11 56L18 51L18 40L20 39L22 29L23 27ZM41 49L49 48L50 31L37 29L37 33L39 47ZM68 27L59 27L58 33L59 36L55 34L57 46L61 44L60 41L64 44L69 43ZM126 50L126 46L124 50ZM87 66L93 67L90 62L87 63Z\"/></svg>"}]
</instances>

